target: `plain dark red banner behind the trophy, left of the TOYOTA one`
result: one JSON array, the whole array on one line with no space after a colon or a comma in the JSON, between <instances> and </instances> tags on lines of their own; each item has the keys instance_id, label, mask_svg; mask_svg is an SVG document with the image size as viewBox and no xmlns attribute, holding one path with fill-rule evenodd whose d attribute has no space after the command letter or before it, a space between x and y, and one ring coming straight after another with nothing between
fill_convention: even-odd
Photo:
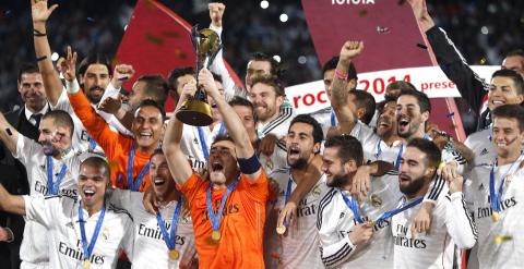
<instances>
[{"instance_id":1,"label":"plain dark red banner behind the trophy, left of the TOYOTA one","mask_svg":"<svg viewBox=\"0 0 524 269\"><path fill-rule=\"evenodd\" d=\"M191 27L163 4L139 0L118 48L116 62L132 64L136 71L135 78L144 74L162 74L167 78L175 68L194 66ZM228 70L236 83L241 85L229 66ZM126 83L124 87L131 88L132 83ZM170 98L166 110L174 110Z\"/></svg>"}]
</instances>

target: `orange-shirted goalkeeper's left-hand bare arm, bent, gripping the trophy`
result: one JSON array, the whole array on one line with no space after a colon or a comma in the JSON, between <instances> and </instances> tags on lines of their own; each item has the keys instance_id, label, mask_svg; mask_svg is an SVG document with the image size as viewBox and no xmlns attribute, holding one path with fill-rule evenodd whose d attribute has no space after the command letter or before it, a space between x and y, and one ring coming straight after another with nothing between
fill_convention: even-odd
<instances>
[{"instance_id":1,"label":"orange-shirted goalkeeper's left-hand bare arm, bent, gripping the trophy","mask_svg":"<svg viewBox=\"0 0 524 269\"><path fill-rule=\"evenodd\" d=\"M183 123L176 117L181 105L191 98L196 90L196 84L192 81L183 85L182 94L178 100L175 113L167 124L166 133L164 134L163 150L167 159L169 171L171 172L175 182L182 186L183 183L193 173L189 164L188 157L182 152L180 140L182 139Z\"/></svg>"}]
</instances>

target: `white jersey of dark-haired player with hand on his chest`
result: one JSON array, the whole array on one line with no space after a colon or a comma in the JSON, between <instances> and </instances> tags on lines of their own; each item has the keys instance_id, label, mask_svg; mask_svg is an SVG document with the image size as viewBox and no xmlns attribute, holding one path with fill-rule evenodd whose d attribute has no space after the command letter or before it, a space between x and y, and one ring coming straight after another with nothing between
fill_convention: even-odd
<instances>
[{"instance_id":1,"label":"white jersey of dark-haired player with hand on his chest","mask_svg":"<svg viewBox=\"0 0 524 269\"><path fill-rule=\"evenodd\" d=\"M391 268L393 267L393 241L391 220L374 224L374 234L365 245L353 244L349 233L357 223L355 215L346 205L346 191L331 188L319 206L317 228L320 235L320 253L329 268ZM388 172L371 179L371 189L360 206L364 221L376 221L382 213L394 209L402 197L398 191L398 174Z\"/></svg>"}]
</instances>

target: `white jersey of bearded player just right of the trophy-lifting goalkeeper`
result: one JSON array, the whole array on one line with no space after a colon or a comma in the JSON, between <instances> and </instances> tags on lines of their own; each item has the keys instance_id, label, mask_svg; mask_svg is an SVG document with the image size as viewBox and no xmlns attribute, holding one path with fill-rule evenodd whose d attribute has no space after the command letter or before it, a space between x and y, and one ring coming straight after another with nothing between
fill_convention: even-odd
<instances>
[{"instance_id":1,"label":"white jersey of bearded player just right of the trophy-lifting goalkeeper","mask_svg":"<svg viewBox=\"0 0 524 269\"><path fill-rule=\"evenodd\" d=\"M270 178L278 184L276 212L273 212L278 215L285 206L290 171L288 169L277 170ZM291 192L296 186L297 184L293 180ZM319 233L315 225L319 203L326 192L325 175L322 174L317 185L297 206L298 220L293 228L288 229L287 235L278 236L275 230L271 235L266 235L266 239L269 236L275 239L274 236L276 236L281 241L282 249L277 249L279 253L275 253L275 255L278 256L283 268L323 268L320 258Z\"/></svg>"}]
</instances>

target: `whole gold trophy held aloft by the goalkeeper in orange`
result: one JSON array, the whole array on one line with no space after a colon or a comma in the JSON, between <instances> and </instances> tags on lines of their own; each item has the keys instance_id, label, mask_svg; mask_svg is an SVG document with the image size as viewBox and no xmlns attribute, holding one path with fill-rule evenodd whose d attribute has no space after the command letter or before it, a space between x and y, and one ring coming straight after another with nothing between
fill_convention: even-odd
<instances>
[{"instance_id":1,"label":"whole gold trophy held aloft by the goalkeeper in orange","mask_svg":"<svg viewBox=\"0 0 524 269\"><path fill-rule=\"evenodd\" d=\"M199 25L191 29L191 41L194 47L196 63L194 75L198 83L200 71L209 69L218 51L222 49L221 38L210 29L199 30ZM196 84L198 85L198 84ZM186 100L177 112L177 119L193 126L209 126L213 122L211 106L207 103L207 95L202 87L196 89L193 98Z\"/></svg>"}]
</instances>

